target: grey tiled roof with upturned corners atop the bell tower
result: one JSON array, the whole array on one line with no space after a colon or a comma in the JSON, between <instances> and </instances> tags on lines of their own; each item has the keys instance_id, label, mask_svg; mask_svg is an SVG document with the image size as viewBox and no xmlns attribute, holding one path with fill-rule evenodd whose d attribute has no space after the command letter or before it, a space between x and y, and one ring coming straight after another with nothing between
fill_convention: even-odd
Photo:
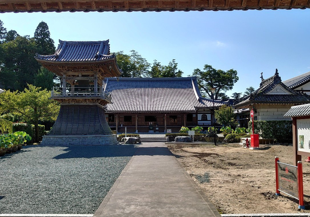
<instances>
[{"instance_id":1,"label":"grey tiled roof with upturned corners atop the bell tower","mask_svg":"<svg viewBox=\"0 0 310 217\"><path fill-rule=\"evenodd\" d=\"M98 62L115 58L110 55L109 40L106 41L61 41L53 55L35 56L37 60L48 62Z\"/></svg>"}]
</instances>

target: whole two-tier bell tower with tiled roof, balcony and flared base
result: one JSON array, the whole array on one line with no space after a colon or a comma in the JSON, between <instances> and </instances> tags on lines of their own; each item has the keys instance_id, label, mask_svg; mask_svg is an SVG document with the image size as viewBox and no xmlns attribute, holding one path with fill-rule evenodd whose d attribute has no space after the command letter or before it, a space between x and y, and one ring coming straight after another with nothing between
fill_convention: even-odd
<instances>
[{"instance_id":1,"label":"whole two-tier bell tower with tiled roof, balcony and flared base","mask_svg":"<svg viewBox=\"0 0 310 217\"><path fill-rule=\"evenodd\" d=\"M109 41L61 41L53 55L35 59L60 76L61 86L53 87L51 99L60 103L60 112L51 131L43 137L45 145L95 145L116 143L104 115L104 106L112 103L103 88L107 77L122 72L110 54Z\"/></svg>"}]
</instances>

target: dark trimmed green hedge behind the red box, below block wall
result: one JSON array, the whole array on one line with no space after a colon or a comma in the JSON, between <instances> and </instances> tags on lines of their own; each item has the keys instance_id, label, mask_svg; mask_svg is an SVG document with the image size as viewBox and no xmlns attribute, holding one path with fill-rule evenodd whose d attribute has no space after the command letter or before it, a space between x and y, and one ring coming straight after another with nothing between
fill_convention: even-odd
<instances>
[{"instance_id":1,"label":"dark trimmed green hedge behind the red box, below block wall","mask_svg":"<svg viewBox=\"0 0 310 217\"><path fill-rule=\"evenodd\" d=\"M249 122L249 132L252 132L252 122ZM283 142L293 139L292 121L254 121L254 133L263 139L276 139Z\"/></svg>"}]
</instances>

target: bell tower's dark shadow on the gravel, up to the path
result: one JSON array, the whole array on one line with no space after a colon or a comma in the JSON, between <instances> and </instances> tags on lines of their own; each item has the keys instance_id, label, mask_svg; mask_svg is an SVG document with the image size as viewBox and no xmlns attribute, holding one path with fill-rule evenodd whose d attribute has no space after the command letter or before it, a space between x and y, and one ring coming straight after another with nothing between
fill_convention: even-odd
<instances>
[{"instance_id":1,"label":"bell tower's dark shadow on the gravel, up to the path","mask_svg":"<svg viewBox=\"0 0 310 217\"><path fill-rule=\"evenodd\" d=\"M66 153L57 155L54 159L93 158L93 157L132 157L137 148L134 145L81 145L69 146L61 151Z\"/></svg>"}]
</instances>

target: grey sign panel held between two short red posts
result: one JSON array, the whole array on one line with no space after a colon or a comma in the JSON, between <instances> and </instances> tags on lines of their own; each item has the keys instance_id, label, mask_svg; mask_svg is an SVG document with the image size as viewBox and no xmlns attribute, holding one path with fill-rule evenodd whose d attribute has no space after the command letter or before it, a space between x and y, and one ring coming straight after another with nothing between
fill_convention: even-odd
<instances>
[{"instance_id":1,"label":"grey sign panel held between two short red posts","mask_svg":"<svg viewBox=\"0 0 310 217\"><path fill-rule=\"evenodd\" d=\"M278 162L279 190L298 199L297 166Z\"/></svg>"}]
</instances>

